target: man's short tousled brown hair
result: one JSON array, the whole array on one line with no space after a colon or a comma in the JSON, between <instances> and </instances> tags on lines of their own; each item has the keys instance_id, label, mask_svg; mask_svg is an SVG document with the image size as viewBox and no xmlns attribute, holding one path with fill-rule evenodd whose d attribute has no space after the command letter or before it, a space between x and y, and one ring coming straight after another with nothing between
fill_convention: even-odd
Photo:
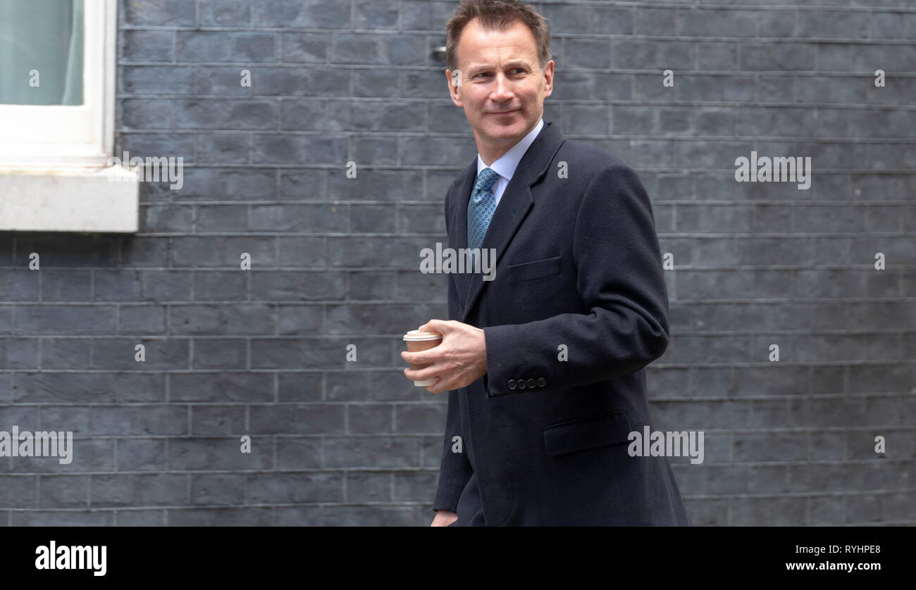
<instances>
[{"instance_id":1,"label":"man's short tousled brown hair","mask_svg":"<svg viewBox=\"0 0 916 590\"><path fill-rule=\"evenodd\" d=\"M534 35L540 69L543 70L551 60L551 29L547 26L547 19L540 16L534 6L518 0L462 0L445 24L445 61L449 70L458 68L458 40L464 27L474 18L480 18L485 28L500 30L521 21Z\"/></svg>"}]
</instances>

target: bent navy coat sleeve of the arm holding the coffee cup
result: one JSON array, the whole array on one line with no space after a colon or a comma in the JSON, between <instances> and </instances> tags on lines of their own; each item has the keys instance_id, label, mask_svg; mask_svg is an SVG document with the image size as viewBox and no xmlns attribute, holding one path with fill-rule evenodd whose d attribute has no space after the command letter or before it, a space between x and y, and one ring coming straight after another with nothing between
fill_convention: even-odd
<instances>
[{"instance_id":1,"label":"bent navy coat sleeve of the arm holding the coffee cup","mask_svg":"<svg viewBox=\"0 0 916 590\"><path fill-rule=\"evenodd\" d=\"M588 314L485 327L487 396L555 392L642 369L668 347L668 293L649 196L627 166L607 166L585 188L573 228L576 290ZM567 359L559 358L565 345Z\"/></svg>"}]
</instances>

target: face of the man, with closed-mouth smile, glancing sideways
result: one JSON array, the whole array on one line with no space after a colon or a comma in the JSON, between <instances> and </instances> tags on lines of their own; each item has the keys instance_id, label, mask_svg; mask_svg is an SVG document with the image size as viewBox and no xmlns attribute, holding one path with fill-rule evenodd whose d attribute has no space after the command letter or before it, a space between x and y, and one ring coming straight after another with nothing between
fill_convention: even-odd
<instances>
[{"instance_id":1,"label":"face of the man, with closed-mouth smile, glancing sideways","mask_svg":"<svg viewBox=\"0 0 916 590\"><path fill-rule=\"evenodd\" d=\"M553 61L540 70L534 35L521 21L499 30L482 27L479 18L464 27L455 57L460 75L445 73L478 147L492 152L516 144L543 113L553 90Z\"/></svg>"}]
</instances>

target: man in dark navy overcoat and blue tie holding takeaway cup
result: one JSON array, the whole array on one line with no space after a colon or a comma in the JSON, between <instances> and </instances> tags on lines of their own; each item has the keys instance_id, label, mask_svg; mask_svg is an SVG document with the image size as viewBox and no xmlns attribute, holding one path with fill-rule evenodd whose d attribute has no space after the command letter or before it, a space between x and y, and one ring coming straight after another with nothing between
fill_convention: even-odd
<instances>
[{"instance_id":1,"label":"man in dark navy overcoat and blue tie holding takeaway cup","mask_svg":"<svg viewBox=\"0 0 916 590\"><path fill-rule=\"evenodd\" d=\"M627 454L668 346L649 197L541 119L554 64L530 5L464 0L447 28L478 149L445 199L449 246L494 248L496 274L449 274L450 320L420 327L442 344L401 354L449 392L432 525L690 525L668 460Z\"/></svg>"}]
</instances>

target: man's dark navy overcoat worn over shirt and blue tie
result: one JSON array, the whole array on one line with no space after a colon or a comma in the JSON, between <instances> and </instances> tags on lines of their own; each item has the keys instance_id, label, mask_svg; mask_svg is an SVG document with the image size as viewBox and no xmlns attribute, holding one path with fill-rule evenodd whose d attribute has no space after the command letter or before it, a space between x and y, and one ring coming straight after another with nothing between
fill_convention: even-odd
<instances>
[{"instance_id":1,"label":"man's dark navy overcoat worn over shirt and blue tie","mask_svg":"<svg viewBox=\"0 0 916 590\"><path fill-rule=\"evenodd\" d=\"M455 250L476 175L474 157L445 198ZM545 121L482 248L496 249L495 279L449 274L448 306L484 329L487 372L448 392L433 510L457 511L474 474L488 526L690 525L668 460L627 454L628 434L651 427L644 367L668 346L636 174Z\"/></svg>"}]
</instances>

